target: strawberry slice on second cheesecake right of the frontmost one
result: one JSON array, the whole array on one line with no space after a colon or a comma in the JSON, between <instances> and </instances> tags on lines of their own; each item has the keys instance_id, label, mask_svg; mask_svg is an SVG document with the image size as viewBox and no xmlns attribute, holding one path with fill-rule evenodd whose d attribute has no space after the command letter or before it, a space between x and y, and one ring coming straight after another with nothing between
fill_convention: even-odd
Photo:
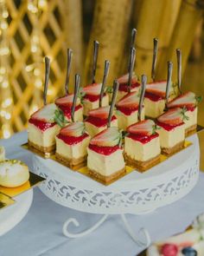
<instances>
[{"instance_id":1,"label":"strawberry slice on second cheesecake right of the frontmost one","mask_svg":"<svg viewBox=\"0 0 204 256\"><path fill-rule=\"evenodd\" d=\"M184 109L170 108L166 113L160 115L157 120L169 125L179 125L182 124L184 118Z\"/></svg>"}]
</instances>

